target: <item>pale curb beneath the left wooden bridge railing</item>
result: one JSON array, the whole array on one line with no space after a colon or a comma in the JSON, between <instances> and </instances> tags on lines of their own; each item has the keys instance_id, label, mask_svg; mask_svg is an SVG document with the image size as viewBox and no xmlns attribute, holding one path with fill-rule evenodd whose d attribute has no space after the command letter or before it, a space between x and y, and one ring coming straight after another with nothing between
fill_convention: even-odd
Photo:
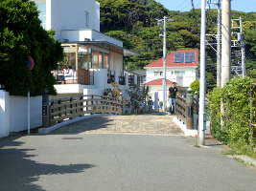
<instances>
[{"instance_id":1,"label":"pale curb beneath the left wooden bridge railing","mask_svg":"<svg viewBox=\"0 0 256 191\"><path fill-rule=\"evenodd\" d=\"M69 125L69 124L72 124L75 122L79 122L84 119L89 119L89 118L94 118L94 117L106 117L106 116L109 116L109 115L95 114L95 115L89 115L89 116L84 116L84 117L75 117L75 118L65 120L61 123L55 124L55 125L47 127L47 128L40 128L40 129L38 129L38 134L42 134L42 135L49 134L63 126L66 126L66 125Z\"/></svg>"}]
</instances>

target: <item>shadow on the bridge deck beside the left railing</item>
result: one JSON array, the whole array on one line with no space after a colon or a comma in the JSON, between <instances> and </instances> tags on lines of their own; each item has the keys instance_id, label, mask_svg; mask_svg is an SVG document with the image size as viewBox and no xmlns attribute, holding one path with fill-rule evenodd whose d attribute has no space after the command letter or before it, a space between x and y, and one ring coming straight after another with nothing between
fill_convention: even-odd
<instances>
[{"instance_id":1,"label":"shadow on the bridge deck beside the left railing","mask_svg":"<svg viewBox=\"0 0 256 191\"><path fill-rule=\"evenodd\" d=\"M89 119L84 119L82 121L72 123L70 125L61 127L60 129L52 132L56 135L77 135L83 132L88 132L97 129L104 129L107 125L111 124L113 120L108 117L94 117Z\"/></svg>"}]
</instances>

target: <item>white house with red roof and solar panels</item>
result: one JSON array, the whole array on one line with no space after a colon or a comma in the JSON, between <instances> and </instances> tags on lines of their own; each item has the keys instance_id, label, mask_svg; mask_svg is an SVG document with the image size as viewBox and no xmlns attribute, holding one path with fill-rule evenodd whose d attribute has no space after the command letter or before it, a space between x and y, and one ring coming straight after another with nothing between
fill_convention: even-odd
<instances>
[{"instance_id":1,"label":"white house with red roof and solar panels","mask_svg":"<svg viewBox=\"0 0 256 191\"><path fill-rule=\"evenodd\" d=\"M167 55L167 94L175 82L178 87L188 88L198 78L198 50L178 50ZM160 58L146 65L146 83L154 105L163 101L163 59Z\"/></svg>"}]
</instances>

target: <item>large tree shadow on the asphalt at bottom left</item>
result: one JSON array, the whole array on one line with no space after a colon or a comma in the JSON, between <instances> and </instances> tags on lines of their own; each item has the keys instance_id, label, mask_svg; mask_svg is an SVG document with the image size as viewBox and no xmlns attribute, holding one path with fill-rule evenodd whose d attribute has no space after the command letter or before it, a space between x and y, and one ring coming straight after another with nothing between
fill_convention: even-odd
<instances>
[{"instance_id":1,"label":"large tree shadow on the asphalt at bottom left","mask_svg":"<svg viewBox=\"0 0 256 191\"><path fill-rule=\"evenodd\" d=\"M1 191L44 191L35 184L39 176L81 173L94 167L92 164L57 165L37 162L33 160L35 155L28 154L35 149L17 149L23 142L9 139L4 140L4 143L5 146L0 147Z\"/></svg>"}]
</instances>

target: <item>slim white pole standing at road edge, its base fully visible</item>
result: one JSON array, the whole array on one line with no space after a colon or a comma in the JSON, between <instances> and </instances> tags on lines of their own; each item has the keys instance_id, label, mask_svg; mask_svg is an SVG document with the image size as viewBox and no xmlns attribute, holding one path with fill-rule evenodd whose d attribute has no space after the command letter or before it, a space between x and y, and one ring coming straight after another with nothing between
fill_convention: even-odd
<instances>
[{"instance_id":1,"label":"slim white pole standing at road edge, its base fully visible","mask_svg":"<svg viewBox=\"0 0 256 191\"><path fill-rule=\"evenodd\" d=\"M200 94L198 145L204 145L204 110L205 110L205 65L206 65L206 0L201 0L201 34L200 34Z\"/></svg>"}]
</instances>

